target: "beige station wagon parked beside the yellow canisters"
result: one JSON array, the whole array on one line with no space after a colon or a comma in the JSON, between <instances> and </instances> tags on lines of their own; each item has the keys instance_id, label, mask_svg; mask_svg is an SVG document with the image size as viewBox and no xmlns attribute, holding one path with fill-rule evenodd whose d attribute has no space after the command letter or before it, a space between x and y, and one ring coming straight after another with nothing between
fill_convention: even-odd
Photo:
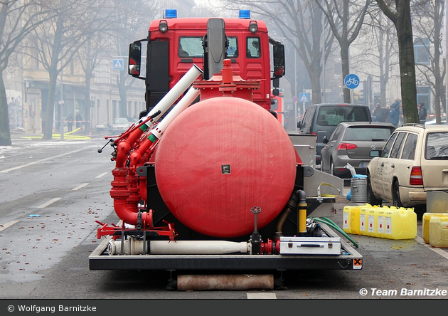
<instances>
[{"instance_id":1,"label":"beige station wagon parked beside the yellow canisters","mask_svg":"<svg viewBox=\"0 0 448 316\"><path fill-rule=\"evenodd\" d=\"M448 187L448 126L405 124L384 149L370 152L368 203L394 206L426 205L427 191ZM377 157L374 157L377 156Z\"/></svg>"}]
</instances>

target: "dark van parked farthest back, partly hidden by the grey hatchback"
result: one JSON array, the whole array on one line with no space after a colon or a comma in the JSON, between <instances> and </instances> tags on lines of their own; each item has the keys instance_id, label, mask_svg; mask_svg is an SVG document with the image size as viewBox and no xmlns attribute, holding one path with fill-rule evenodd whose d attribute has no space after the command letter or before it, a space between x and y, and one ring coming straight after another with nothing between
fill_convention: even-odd
<instances>
[{"instance_id":1,"label":"dark van parked farthest back, partly hidden by the grey hatchback","mask_svg":"<svg viewBox=\"0 0 448 316\"><path fill-rule=\"evenodd\" d=\"M367 105L321 103L306 109L301 122L297 123L299 134L316 135L316 165L321 164L324 137L330 137L340 122L371 122Z\"/></svg>"}]
</instances>

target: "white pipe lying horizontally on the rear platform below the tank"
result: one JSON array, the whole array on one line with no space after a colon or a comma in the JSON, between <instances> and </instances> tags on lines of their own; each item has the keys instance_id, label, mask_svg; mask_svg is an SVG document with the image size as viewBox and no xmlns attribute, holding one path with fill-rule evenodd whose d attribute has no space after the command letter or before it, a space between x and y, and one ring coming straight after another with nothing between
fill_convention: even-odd
<instances>
[{"instance_id":1,"label":"white pipe lying horizontally on the rear platform below the tank","mask_svg":"<svg viewBox=\"0 0 448 316\"><path fill-rule=\"evenodd\" d=\"M250 243L242 241L146 241L146 253L151 255L221 255L225 253L248 253ZM124 255L142 255L144 243L136 238L123 242ZM107 246L110 256L122 253L122 241L110 240Z\"/></svg>"}]
</instances>

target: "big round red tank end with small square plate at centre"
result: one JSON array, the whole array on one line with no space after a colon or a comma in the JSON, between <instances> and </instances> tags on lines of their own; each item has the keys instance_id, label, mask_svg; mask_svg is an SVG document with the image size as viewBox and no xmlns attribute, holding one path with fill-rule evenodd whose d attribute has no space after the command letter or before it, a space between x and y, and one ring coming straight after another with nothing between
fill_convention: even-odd
<instances>
[{"instance_id":1,"label":"big round red tank end with small square plate at centre","mask_svg":"<svg viewBox=\"0 0 448 316\"><path fill-rule=\"evenodd\" d=\"M214 237L252 233L270 223L294 190L296 152L267 110L223 97L188 107L162 135L156 183L171 213Z\"/></svg>"}]
</instances>

